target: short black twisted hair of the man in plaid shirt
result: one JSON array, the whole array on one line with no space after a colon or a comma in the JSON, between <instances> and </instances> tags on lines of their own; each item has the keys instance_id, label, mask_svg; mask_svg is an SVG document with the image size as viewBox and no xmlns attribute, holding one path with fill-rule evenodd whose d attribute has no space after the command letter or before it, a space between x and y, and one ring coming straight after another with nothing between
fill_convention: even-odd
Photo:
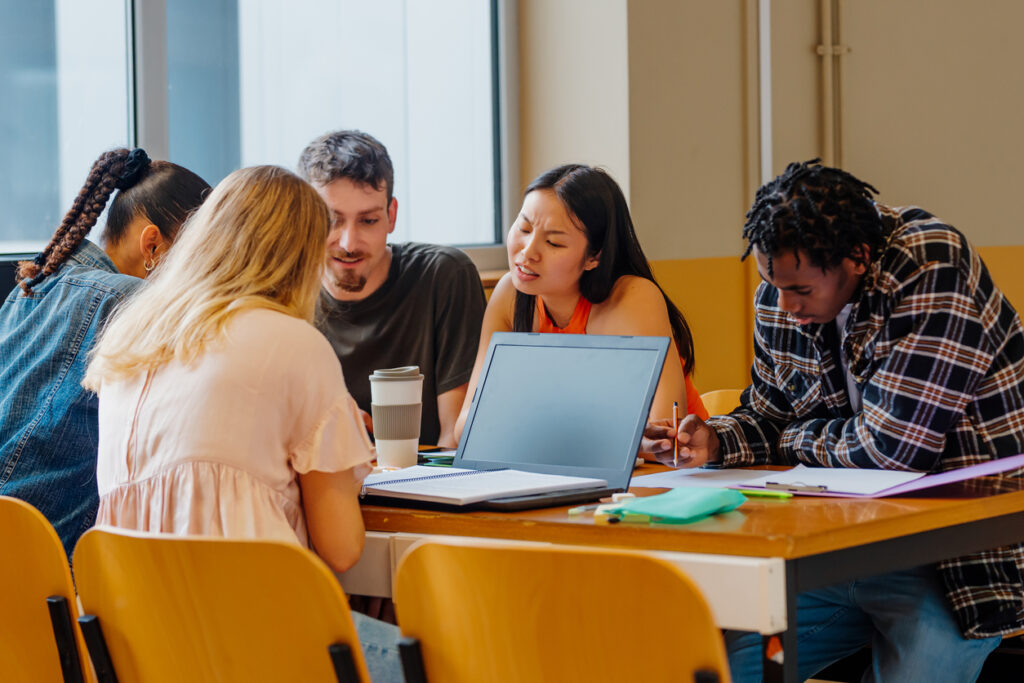
<instances>
[{"instance_id":1,"label":"short black twisted hair of the man in plaid shirt","mask_svg":"<svg viewBox=\"0 0 1024 683\"><path fill-rule=\"evenodd\" d=\"M850 173L821 166L820 160L795 162L774 180L765 183L746 213L742 259L757 247L768 257L768 274L774 273L772 256L793 250L803 252L822 270L844 258L863 262L882 251L890 228L874 207L878 189ZM867 245L869 254L861 246Z\"/></svg>"}]
</instances>

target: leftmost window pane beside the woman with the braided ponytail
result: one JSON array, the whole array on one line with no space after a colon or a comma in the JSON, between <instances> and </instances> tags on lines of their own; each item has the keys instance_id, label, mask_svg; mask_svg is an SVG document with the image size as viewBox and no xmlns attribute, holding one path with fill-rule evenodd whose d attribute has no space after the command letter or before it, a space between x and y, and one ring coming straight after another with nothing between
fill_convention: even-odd
<instances>
[{"instance_id":1,"label":"leftmost window pane beside the woman with the braided ponytail","mask_svg":"<svg viewBox=\"0 0 1024 683\"><path fill-rule=\"evenodd\" d=\"M123 0L0 0L0 251L38 251L129 141Z\"/></svg>"}]
</instances>

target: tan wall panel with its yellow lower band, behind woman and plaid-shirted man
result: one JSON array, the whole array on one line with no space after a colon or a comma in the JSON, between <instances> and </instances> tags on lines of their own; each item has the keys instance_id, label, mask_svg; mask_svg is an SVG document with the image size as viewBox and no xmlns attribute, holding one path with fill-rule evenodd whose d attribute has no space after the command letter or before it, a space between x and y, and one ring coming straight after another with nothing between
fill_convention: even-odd
<instances>
[{"instance_id":1,"label":"tan wall panel with its yellow lower band, behind woman and plaid-shirted man","mask_svg":"<svg viewBox=\"0 0 1024 683\"><path fill-rule=\"evenodd\" d=\"M740 228L757 187L756 4L629 3L631 209L693 333L698 390L746 384Z\"/></svg>"}]
</instances>

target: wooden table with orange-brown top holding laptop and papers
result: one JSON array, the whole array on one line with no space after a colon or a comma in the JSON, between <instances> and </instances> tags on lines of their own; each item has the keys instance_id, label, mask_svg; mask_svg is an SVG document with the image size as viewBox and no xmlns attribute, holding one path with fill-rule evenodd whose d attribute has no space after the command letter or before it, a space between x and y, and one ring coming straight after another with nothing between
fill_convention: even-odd
<instances>
[{"instance_id":1,"label":"wooden table with orange-brown top holding laptop and papers","mask_svg":"<svg viewBox=\"0 0 1024 683\"><path fill-rule=\"evenodd\" d=\"M645 465L637 474L662 469ZM720 627L757 631L766 642L779 636L784 665L766 663L766 680L788 682L798 680L799 593L1024 542L1024 479L993 477L877 500L751 498L733 512L686 525L595 523L567 508L452 513L365 506L362 515L367 548L341 575L351 594L389 597L398 560L424 538L634 549L686 571Z\"/></svg>"}]
</instances>

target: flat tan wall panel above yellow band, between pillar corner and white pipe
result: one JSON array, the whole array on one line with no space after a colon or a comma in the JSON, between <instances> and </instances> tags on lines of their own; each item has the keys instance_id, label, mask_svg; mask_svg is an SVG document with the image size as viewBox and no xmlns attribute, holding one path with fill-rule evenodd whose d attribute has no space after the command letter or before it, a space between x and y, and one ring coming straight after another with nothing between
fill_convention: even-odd
<instances>
[{"instance_id":1,"label":"flat tan wall panel above yellow band, between pillar corner and white pipe","mask_svg":"<svg viewBox=\"0 0 1024 683\"><path fill-rule=\"evenodd\" d=\"M651 260L739 253L758 165L748 4L629 4L632 210Z\"/></svg>"}]
</instances>

